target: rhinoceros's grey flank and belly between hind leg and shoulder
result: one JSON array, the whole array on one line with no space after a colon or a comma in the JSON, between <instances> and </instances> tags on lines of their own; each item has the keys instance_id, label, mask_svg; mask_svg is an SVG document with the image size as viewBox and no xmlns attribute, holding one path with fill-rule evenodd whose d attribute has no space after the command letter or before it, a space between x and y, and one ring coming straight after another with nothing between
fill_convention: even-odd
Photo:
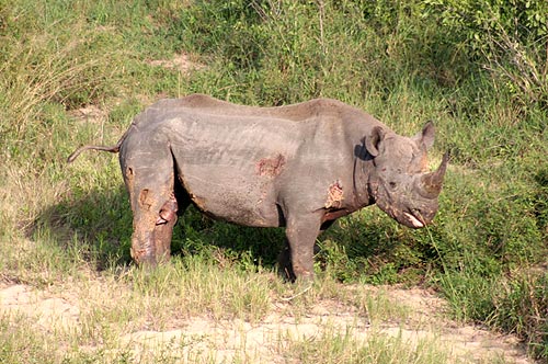
<instances>
[{"instance_id":1,"label":"rhinoceros's grey flank and belly between hind leg and shoulder","mask_svg":"<svg viewBox=\"0 0 548 364\"><path fill-rule=\"evenodd\" d=\"M241 117L176 121L171 149L194 204L231 223L279 226L276 182L298 147L285 126Z\"/></svg>"}]
</instances>

